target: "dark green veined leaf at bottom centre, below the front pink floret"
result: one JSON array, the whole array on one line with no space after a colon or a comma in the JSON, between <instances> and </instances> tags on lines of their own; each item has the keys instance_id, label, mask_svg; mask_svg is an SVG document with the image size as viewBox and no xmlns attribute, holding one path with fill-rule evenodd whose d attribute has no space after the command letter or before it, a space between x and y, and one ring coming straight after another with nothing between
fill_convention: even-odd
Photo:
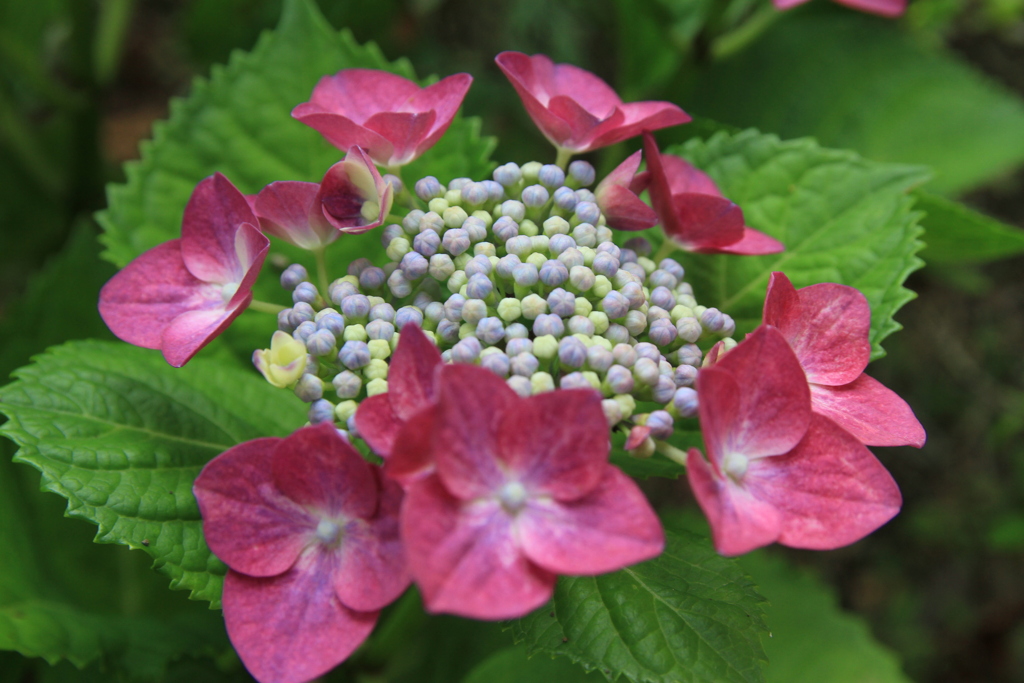
<instances>
[{"instance_id":1,"label":"dark green veined leaf at bottom centre, below the front pink floret","mask_svg":"<svg viewBox=\"0 0 1024 683\"><path fill-rule=\"evenodd\" d=\"M707 539L666 529L653 560L562 577L552 603L513 622L528 651L644 683L762 681L767 631L754 584Z\"/></svg>"}]
</instances>

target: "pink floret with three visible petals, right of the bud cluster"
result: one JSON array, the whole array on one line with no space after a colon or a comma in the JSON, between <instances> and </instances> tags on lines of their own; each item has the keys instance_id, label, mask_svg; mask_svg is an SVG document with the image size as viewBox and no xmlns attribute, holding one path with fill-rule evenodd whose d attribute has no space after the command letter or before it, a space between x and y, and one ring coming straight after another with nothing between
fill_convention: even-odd
<instances>
[{"instance_id":1,"label":"pink floret with three visible petals, right of the bud cluster","mask_svg":"<svg viewBox=\"0 0 1024 683\"><path fill-rule=\"evenodd\" d=\"M800 362L778 330L758 328L702 369L697 390L708 460L690 450L686 473L723 555L774 542L839 548L899 511L882 463L811 412Z\"/></svg>"}]
</instances>

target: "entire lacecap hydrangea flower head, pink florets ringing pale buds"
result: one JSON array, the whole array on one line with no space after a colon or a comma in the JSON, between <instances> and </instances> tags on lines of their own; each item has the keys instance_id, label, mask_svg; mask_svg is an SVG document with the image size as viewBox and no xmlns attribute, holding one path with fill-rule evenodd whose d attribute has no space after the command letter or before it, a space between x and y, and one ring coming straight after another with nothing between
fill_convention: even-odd
<instances>
[{"instance_id":1,"label":"entire lacecap hydrangea flower head, pink florets ringing pale buds","mask_svg":"<svg viewBox=\"0 0 1024 683\"><path fill-rule=\"evenodd\" d=\"M229 567L228 635L262 683L310 680L344 660L410 581L428 611L512 618L550 599L560 574L657 556L660 524L609 463L612 436L634 457L656 451L687 467L724 554L839 547L899 509L865 446L920 446L924 432L863 374L862 295L797 290L775 273L764 325L737 343L728 311L699 303L707 293L674 255L784 245L657 148L651 131L687 115L623 102L544 55L497 61L556 163L403 180L471 78L420 88L342 71L293 112L344 153L318 183L282 178L246 197L207 178L181 239L102 291L115 334L175 366L247 306L275 314L253 361L308 403L308 425L230 449L194 488L206 540ZM600 182L570 161L641 135ZM646 238L623 239L657 224L656 255ZM328 272L325 250L368 230L384 259ZM284 268L287 306L253 301L268 237L317 264ZM706 449L687 454L669 439L692 419Z\"/></svg>"}]
</instances>

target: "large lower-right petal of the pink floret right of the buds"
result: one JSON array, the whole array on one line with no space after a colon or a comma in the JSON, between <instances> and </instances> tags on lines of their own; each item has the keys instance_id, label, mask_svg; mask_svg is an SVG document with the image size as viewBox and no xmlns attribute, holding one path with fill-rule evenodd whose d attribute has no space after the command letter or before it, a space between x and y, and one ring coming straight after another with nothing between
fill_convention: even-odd
<instances>
[{"instance_id":1,"label":"large lower-right petal of the pink floret right of the buds","mask_svg":"<svg viewBox=\"0 0 1024 683\"><path fill-rule=\"evenodd\" d=\"M814 416L792 452L750 465L743 486L782 513L778 542L831 550L892 519L902 499L878 458L836 423Z\"/></svg>"}]
</instances>

